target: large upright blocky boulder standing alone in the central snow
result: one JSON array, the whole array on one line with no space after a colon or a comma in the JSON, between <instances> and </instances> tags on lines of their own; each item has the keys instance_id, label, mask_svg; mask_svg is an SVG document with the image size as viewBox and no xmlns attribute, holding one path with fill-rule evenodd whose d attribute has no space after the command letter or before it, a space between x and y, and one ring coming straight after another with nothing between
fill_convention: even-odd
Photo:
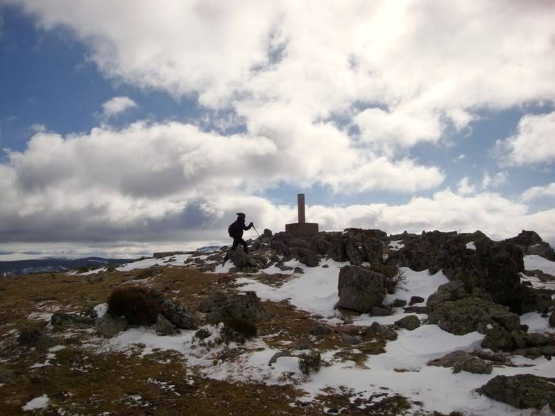
<instances>
[{"instance_id":1,"label":"large upright blocky boulder standing alone in the central snow","mask_svg":"<svg viewBox=\"0 0 555 416\"><path fill-rule=\"evenodd\" d=\"M339 302L337 306L368 313L382 306L386 295L386 279L381 273L359 266L343 266L339 270Z\"/></svg>"}]
</instances>

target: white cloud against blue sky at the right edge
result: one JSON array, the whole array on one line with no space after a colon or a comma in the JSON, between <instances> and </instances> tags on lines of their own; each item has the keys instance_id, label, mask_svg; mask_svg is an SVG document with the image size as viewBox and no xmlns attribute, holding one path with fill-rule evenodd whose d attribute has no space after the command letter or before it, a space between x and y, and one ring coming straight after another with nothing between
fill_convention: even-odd
<instances>
[{"instance_id":1,"label":"white cloud against blue sky at the right edge","mask_svg":"<svg viewBox=\"0 0 555 416\"><path fill-rule=\"evenodd\" d=\"M495 150L507 166L555 162L555 112L523 116L517 134L498 140Z\"/></svg>"}]
</instances>

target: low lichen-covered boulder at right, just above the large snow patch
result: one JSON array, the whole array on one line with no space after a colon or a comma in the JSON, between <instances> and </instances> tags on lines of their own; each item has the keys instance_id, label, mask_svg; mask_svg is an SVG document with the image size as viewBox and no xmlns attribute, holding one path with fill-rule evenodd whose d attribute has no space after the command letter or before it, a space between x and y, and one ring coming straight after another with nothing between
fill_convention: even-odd
<instances>
[{"instance_id":1,"label":"low lichen-covered boulder at right, just above the large snow patch","mask_svg":"<svg viewBox=\"0 0 555 416\"><path fill-rule=\"evenodd\" d=\"M436 304L428 315L429 322L455 335L478 331L486 333L488 325L499 324L508 331L520 330L520 318L509 308L478 297L464 297Z\"/></svg>"}]
</instances>

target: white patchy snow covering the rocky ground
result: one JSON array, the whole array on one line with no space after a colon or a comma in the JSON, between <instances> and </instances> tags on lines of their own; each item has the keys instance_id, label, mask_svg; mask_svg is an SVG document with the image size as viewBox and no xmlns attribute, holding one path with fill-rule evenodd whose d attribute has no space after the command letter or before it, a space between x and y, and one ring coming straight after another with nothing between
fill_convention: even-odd
<instances>
[{"instance_id":1,"label":"white patchy snow covering the rocky ground","mask_svg":"<svg viewBox=\"0 0 555 416\"><path fill-rule=\"evenodd\" d=\"M470 247L471 248L471 247ZM182 264L186 256L176 256L176 262ZM133 270L146 268L163 263L166 259L145 259L124 265L118 270ZM555 272L555 263L537 256L527 256L524 261L527 269L540 269L544 272ZM337 295L337 281L339 268L344 263L333 260L322 261L320 266L309 268L296 260L285 263L293 268L300 267L304 273L295 273L293 270L282 272L278 268L262 270L271 276L273 272L290 274L291 280L286 281L276 288L257 281L254 277L239 277L236 282L241 291L255 291L264 300L289 300L303 311L307 311L328 323L341 323L339 313L334 305L339 300ZM327 267L322 267L327 266ZM216 272L226 272L232 267L230 262L225 266L219 265ZM443 272L429 275L427 270L415 272L409 268L402 269L407 277L405 284L398 288L395 295L386 297L386 304L396 298L409 300L411 296L418 295L425 300L434 293L438 286L447 282ZM97 307L99 312L105 311L105 304ZM357 325L368 326L372 322L382 324L393 323L406 315L403 309L395 309L395 314L386 317L372 317L362 314L353 318ZM422 320L426 315L418 315ZM549 329L546 318L538 313L522 315L522 324L527 324L530 331L552 331ZM207 326L212 331L209 339L219 334L220 327ZM324 361L329 366L322 367L319 372L310 376L303 375L298 368L298 358L278 358L274 365L268 361L278 349L270 348L264 338L248 341L244 345L245 352L234 360L221 362L214 365L214 356L223 349L222 346L206 349L195 346L192 342L194 331L180 331L176 336L157 336L153 329L135 328L128 329L119 336L107 341L100 341L97 348L105 350L125 351L127 349L142 348L142 354L150 354L155 349L173 349L183 354L187 365L196 366L205 376L214 379L229 379L240 381L260 381L268 384L296 383L298 388L305 390L305 401L310 401L316 395L329 392L330 388L352 389L357 397L368 399L376 393L398 393L411 399L420 401L422 407L429 411L450 413L459 411L465 415L547 415L546 408L541 412L518 410L498 401L479 395L475 389L484 385L488 380L499 374L536 374L539 376L553 376L555 374L555 360L548 361L544 357L531 360L521 356L513 357L513 363L518 366L495 366L492 374L471 374L460 372L452 374L451 368L428 366L427 362L454 352L459 349L472 351L481 349L480 344L484 336L473 332L464 336L456 336L443 331L436 325L424 324L414 331L401 329L398 339L386 345L386 352L379 355L370 355L366 360L366 367L356 367L351 362L334 358L334 352L325 352ZM300 352L293 352L299 354Z\"/></svg>"}]
</instances>

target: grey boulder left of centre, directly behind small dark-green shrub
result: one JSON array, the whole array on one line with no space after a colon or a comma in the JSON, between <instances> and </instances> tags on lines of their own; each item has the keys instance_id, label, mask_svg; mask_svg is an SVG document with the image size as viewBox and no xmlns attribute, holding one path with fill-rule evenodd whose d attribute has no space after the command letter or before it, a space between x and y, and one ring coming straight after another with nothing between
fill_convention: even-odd
<instances>
[{"instance_id":1,"label":"grey boulder left of centre, directly behind small dark-green shrub","mask_svg":"<svg viewBox=\"0 0 555 416\"><path fill-rule=\"evenodd\" d=\"M213 306L206 315L206 320L210 323L229 319L262 322L268 320L268 318L268 311L253 291L227 297L221 306Z\"/></svg>"}]
</instances>

